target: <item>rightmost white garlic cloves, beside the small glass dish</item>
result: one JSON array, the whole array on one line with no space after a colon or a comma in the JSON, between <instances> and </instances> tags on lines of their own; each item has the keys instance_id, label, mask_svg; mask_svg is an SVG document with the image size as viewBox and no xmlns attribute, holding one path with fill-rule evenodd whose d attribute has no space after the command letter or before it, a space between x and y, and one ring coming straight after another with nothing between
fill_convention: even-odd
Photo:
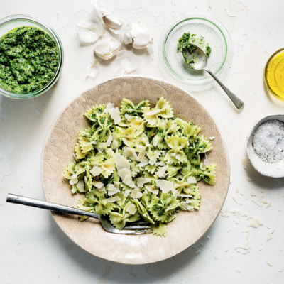
<instances>
[{"instance_id":1,"label":"rightmost white garlic cloves, beside the small glass dish","mask_svg":"<svg viewBox=\"0 0 284 284\"><path fill-rule=\"evenodd\" d=\"M151 35L139 23L129 23L124 33L124 44L132 43L133 48L143 49L153 42Z\"/></svg>"}]
</instances>

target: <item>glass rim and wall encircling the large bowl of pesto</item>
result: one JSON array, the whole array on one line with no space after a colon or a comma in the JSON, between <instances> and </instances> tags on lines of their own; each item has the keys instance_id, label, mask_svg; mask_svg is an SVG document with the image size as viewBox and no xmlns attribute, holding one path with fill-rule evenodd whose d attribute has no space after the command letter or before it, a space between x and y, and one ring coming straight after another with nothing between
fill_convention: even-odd
<instances>
[{"instance_id":1,"label":"glass rim and wall encircling the large bowl of pesto","mask_svg":"<svg viewBox=\"0 0 284 284\"><path fill-rule=\"evenodd\" d=\"M48 82L48 84L45 84L43 88L38 89L38 91L29 92L29 93L13 93L13 92L7 91L6 89L0 86L0 94L4 95L5 97L10 97L13 99L30 99L33 97L38 97L40 96L40 94L47 92L48 89L53 87L53 84L55 84L55 82L58 80L58 78L60 77L60 73L62 71L62 66L64 62L64 50L63 50L63 46L62 46L58 33L56 33L55 30L48 23L45 23L45 21L35 16L25 15L25 14L15 14L15 15L7 16L5 18L1 18L0 28L2 26L5 26L8 23L21 21L21 20L35 23L36 25L42 27L43 31L45 32L48 31L48 34L53 38L53 40L55 40L56 46L58 48L58 55L59 55L58 68L55 74L53 75L53 78L50 80L50 82Z\"/></svg>"}]
</instances>

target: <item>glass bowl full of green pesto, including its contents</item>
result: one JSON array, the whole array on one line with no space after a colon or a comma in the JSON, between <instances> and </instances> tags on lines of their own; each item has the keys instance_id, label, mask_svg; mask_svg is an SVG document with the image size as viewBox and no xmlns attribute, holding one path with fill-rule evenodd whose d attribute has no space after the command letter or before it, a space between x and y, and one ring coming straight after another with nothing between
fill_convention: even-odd
<instances>
[{"instance_id":1,"label":"glass bowl full of green pesto, including its contents","mask_svg":"<svg viewBox=\"0 0 284 284\"><path fill-rule=\"evenodd\" d=\"M0 94L38 97L60 77L63 48L48 23L28 15L0 20Z\"/></svg>"}]
</instances>

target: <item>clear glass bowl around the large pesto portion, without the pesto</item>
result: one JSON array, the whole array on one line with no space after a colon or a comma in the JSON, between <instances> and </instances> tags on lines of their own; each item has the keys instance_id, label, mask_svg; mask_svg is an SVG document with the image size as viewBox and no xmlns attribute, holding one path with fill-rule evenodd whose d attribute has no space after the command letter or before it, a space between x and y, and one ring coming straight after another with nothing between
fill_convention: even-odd
<instances>
[{"instance_id":1,"label":"clear glass bowl around the large pesto portion, without the pesto","mask_svg":"<svg viewBox=\"0 0 284 284\"><path fill-rule=\"evenodd\" d=\"M48 25L48 23L45 23L44 21L40 20L39 18L35 18L34 16L12 15L6 18L2 18L0 20L0 38L3 35L6 35L6 33L9 33L9 31L13 30L14 28L18 28L20 26L33 26L36 28L40 28L41 30L45 31L45 33L48 33L48 35L50 35L51 38L55 40L55 43L58 46L58 53L59 53L58 69L56 70L53 79L50 80L50 82L46 84L42 89L39 89L36 92L19 94L19 93L9 92L6 89L1 88L0 86L0 94L3 94L6 97L11 97L13 99L28 99L28 98L38 97L40 96L40 94L47 92L51 87L53 87L55 82L59 79L60 73L62 71L64 52L58 34L55 33L53 28L51 28Z\"/></svg>"}]
</instances>

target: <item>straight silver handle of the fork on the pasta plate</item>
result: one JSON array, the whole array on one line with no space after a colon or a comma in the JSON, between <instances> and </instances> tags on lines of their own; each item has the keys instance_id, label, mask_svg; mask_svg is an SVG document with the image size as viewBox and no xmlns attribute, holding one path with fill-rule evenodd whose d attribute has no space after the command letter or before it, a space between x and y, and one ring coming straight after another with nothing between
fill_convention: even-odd
<instances>
[{"instance_id":1,"label":"straight silver handle of the fork on the pasta plate","mask_svg":"<svg viewBox=\"0 0 284 284\"><path fill-rule=\"evenodd\" d=\"M16 204L22 204L22 205L31 206L31 207L37 207L41 209L47 209L53 212L68 213L68 214L73 214L73 215L87 216L87 217L93 217L93 218L99 219L99 215L84 211L82 209L64 206L61 204L48 202L44 200L37 200L35 198L25 197L21 195L12 195L11 193L8 193L6 201L10 203L16 203Z\"/></svg>"}]
</instances>

